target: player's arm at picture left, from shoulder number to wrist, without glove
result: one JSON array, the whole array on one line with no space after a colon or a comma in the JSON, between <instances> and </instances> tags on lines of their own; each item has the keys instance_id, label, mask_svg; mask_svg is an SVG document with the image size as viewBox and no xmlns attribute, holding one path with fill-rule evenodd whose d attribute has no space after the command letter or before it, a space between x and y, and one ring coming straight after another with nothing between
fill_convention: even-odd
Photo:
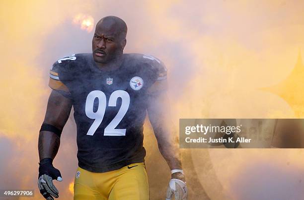
<instances>
[{"instance_id":1,"label":"player's arm at picture left, from shoulder number to wrist, without glove","mask_svg":"<svg viewBox=\"0 0 304 200\"><path fill-rule=\"evenodd\" d=\"M75 55L68 56L55 62L50 69L49 86L52 89L47 110L39 133L38 150L40 161L45 158L54 159L60 145L60 135L67 123L72 100L65 75L69 60L76 60ZM66 73L69 74L69 73Z\"/></svg>"}]
</instances>

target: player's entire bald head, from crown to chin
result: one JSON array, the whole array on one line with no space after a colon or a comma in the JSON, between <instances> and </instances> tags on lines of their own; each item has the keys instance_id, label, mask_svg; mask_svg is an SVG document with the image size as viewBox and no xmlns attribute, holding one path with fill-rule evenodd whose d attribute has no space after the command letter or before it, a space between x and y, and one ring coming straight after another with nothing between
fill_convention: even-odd
<instances>
[{"instance_id":1,"label":"player's entire bald head, from crown to chin","mask_svg":"<svg viewBox=\"0 0 304 200\"><path fill-rule=\"evenodd\" d=\"M92 40L93 58L97 63L108 63L123 54L127 25L119 17L106 16L98 21Z\"/></svg>"}]
</instances>

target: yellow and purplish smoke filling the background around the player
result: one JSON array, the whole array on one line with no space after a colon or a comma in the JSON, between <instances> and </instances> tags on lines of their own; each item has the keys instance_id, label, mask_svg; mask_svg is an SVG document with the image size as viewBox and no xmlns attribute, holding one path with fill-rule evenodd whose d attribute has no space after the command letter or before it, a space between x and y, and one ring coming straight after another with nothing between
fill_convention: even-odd
<instances>
[{"instance_id":1,"label":"yellow and purplish smoke filling the background around the player","mask_svg":"<svg viewBox=\"0 0 304 200\"><path fill-rule=\"evenodd\" d=\"M43 199L37 142L48 73L64 56L91 52L90 25L81 29L79 21L91 17L94 26L103 16L121 17L128 25L125 52L166 65L178 131L180 118L303 118L303 6L299 0L1 1L0 188L35 189L34 199ZM290 76L295 69L299 77ZM151 200L164 199L169 168L149 122L144 134ZM303 156L302 149L183 149L189 199L303 199ZM55 183L59 199L72 199L73 117L54 166L63 175Z\"/></svg>"}]
</instances>

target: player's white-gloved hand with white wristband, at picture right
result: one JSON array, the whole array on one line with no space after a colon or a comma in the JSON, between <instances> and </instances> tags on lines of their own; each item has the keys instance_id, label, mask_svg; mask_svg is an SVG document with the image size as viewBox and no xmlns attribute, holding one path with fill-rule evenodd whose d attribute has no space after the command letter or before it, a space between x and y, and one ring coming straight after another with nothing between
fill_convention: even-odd
<instances>
[{"instance_id":1,"label":"player's white-gloved hand with white wristband, at picture right","mask_svg":"<svg viewBox=\"0 0 304 200\"><path fill-rule=\"evenodd\" d=\"M171 175L171 180L167 189L166 200L171 200L174 194L175 200L187 200L187 186L185 176L176 172Z\"/></svg>"}]
</instances>

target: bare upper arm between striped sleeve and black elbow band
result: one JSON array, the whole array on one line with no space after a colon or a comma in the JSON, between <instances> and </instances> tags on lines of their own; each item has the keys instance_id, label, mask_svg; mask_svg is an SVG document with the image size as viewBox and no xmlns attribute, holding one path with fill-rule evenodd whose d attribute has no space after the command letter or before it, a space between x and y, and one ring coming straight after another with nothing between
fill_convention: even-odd
<instances>
[{"instance_id":1,"label":"bare upper arm between striped sleeve and black elbow band","mask_svg":"<svg viewBox=\"0 0 304 200\"><path fill-rule=\"evenodd\" d=\"M72 100L64 97L59 92L52 90L43 123L51 124L62 130L69 119L71 109Z\"/></svg>"}]
</instances>

